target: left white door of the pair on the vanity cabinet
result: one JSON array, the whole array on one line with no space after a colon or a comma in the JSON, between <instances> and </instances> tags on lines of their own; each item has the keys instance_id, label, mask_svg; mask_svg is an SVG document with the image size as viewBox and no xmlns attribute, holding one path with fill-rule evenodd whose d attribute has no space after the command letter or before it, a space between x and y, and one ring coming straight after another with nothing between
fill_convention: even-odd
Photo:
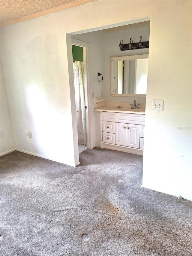
<instances>
[{"instance_id":1,"label":"left white door of the pair on the vanity cabinet","mask_svg":"<svg viewBox=\"0 0 192 256\"><path fill-rule=\"evenodd\" d=\"M127 146L127 124L115 123L115 144Z\"/></svg>"}]
</instances>

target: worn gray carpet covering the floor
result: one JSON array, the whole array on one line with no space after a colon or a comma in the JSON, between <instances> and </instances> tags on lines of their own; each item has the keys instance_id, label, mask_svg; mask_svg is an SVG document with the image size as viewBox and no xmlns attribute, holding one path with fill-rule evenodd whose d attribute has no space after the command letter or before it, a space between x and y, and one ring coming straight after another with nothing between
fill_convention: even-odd
<instances>
[{"instance_id":1,"label":"worn gray carpet covering the floor","mask_svg":"<svg viewBox=\"0 0 192 256\"><path fill-rule=\"evenodd\" d=\"M1 157L1 256L192 255L192 202L142 188L142 156L79 158Z\"/></svg>"}]
</instances>

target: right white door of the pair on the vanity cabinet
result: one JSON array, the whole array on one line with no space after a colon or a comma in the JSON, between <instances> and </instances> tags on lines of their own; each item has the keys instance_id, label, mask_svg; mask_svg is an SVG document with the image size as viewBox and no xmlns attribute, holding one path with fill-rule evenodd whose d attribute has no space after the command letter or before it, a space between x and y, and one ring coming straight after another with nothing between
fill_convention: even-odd
<instances>
[{"instance_id":1,"label":"right white door of the pair on the vanity cabinet","mask_svg":"<svg viewBox=\"0 0 192 256\"><path fill-rule=\"evenodd\" d=\"M139 149L140 125L127 125L127 146Z\"/></svg>"}]
</instances>

